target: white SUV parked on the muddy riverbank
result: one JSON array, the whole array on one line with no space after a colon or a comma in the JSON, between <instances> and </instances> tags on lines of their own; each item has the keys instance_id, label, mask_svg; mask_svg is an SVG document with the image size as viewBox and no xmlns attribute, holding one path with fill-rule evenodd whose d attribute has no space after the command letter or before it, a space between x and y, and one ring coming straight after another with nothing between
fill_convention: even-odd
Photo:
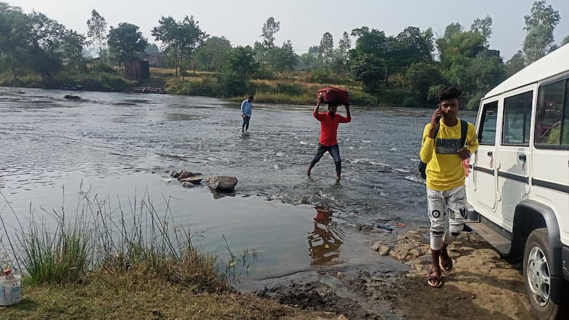
<instances>
[{"instance_id":1,"label":"white SUV parked on the muddy riverbank","mask_svg":"<svg viewBox=\"0 0 569 320\"><path fill-rule=\"evenodd\" d=\"M569 312L569 45L482 98L466 181L469 227L524 260L539 319Z\"/></svg>"}]
</instances>

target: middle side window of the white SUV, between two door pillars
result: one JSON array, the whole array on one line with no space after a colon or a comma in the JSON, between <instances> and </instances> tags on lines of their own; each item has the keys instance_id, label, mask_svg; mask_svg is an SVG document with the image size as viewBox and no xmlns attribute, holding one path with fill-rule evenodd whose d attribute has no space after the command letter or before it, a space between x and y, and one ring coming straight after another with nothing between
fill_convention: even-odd
<instances>
[{"instance_id":1,"label":"middle side window of the white SUV, between two door pillars","mask_svg":"<svg viewBox=\"0 0 569 320\"><path fill-rule=\"evenodd\" d=\"M529 146L533 91L504 99L502 144Z\"/></svg>"}]
</instances>

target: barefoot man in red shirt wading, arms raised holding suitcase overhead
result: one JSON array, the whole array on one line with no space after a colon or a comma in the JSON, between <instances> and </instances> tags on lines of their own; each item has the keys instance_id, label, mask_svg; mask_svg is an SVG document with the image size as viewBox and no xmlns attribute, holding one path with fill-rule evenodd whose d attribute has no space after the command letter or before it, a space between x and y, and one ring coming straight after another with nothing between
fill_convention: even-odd
<instances>
[{"instance_id":1,"label":"barefoot man in red shirt wading, arms raised holding suitcase overhead","mask_svg":"<svg viewBox=\"0 0 569 320\"><path fill-rule=\"evenodd\" d=\"M320 121L320 141L318 141L318 148L316 150L316 155L312 159L306 174L310 175L310 172L314 165L320 161L320 158L324 153L329 152L334 159L336 165L336 181L339 181L342 174L342 159L339 157L339 148L337 141L338 125L340 123L346 124L352 121L352 116L350 115L350 104L344 104L346 106L347 117L338 115L336 110L338 108L337 104L328 104L328 112L320 113L320 103L324 101L322 95L316 100L316 107L312 112L312 115Z\"/></svg>"}]
</instances>

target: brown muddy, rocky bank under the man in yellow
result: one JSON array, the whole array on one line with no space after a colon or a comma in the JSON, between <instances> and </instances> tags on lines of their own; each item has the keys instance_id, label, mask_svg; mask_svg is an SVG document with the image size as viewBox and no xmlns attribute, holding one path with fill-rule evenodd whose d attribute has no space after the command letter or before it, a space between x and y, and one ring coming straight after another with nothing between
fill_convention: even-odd
<instances>
[{"instance_id":1,"label":"brown muddy, rocky bank under the man in yellow","mask_svg":"<svg viewBox=\"0 0 569 320\"><path fill-rule=\"evenodd\" d=\"M500 258L476 233L463 232L449 247L454 269L443 273L443 288L429 287L427 236L425 228L412 229L375 244L383 255L405 264L404 271L328 269L306 281L283 279L257 295L348 319L534 319L521 264Z\"/></svg>"}]
</instances>

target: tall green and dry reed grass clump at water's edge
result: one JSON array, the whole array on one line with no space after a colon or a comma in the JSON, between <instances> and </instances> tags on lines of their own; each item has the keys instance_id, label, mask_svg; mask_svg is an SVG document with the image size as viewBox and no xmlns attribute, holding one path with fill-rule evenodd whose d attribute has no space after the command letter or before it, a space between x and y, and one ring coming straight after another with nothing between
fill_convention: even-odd
<instances>
[{"instance_id":1,"label":"tall green and dry reed grass clump at water's edge","mask_svg":"<svg viewBox=\"0 0 569 320\"><path fill-rule=\"evenodd\" d=\"M65 203L51 212L30 209L25 227L10 207L19 225L14 231L12 266L21 262L19 271L27 284L76 284L98 274L135 282L159 279L197 292L232 290L232 282L248 272L256 252L246 249L234 255L225 238L227 258L204 251L197 246L202 233L177 224L170 208L172 198L162 196L161 200L163 212L145 190L142 198L129 198L125 209L120 199L113 205L109 196L101 199L90 190L81 191L71 214ZM6 227L4 231L8 239L14 234ZM4 246L4 251L10 249Z\"/></svg>"}]
</instances>

